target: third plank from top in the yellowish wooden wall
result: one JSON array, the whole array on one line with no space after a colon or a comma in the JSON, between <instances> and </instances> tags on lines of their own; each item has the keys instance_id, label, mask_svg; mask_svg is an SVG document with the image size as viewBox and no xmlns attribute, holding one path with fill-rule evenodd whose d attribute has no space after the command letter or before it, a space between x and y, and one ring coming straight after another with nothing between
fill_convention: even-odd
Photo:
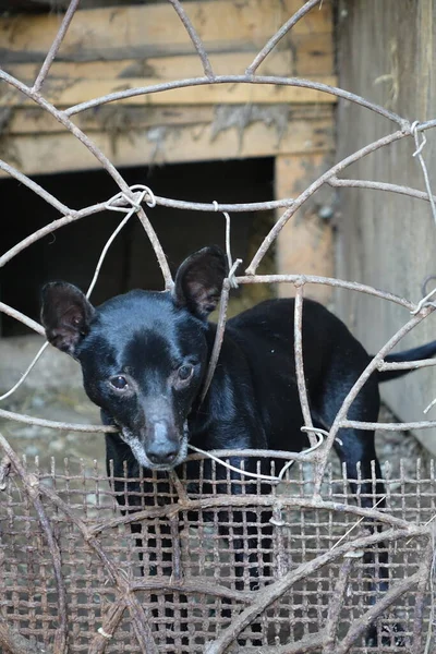
<instances>
[{"instance_id":1,"label":"third plank from top in the yellowish wooden wall","mask_svg":"<svg viewBox=\"0 0 436 654\"><path fill-rule=\"evenodd\" d=\"M332 75L312 77L314 82L322 82L330 86L337 85ZM92 100L110 93L148 86L159 81L152 78L129 80L69 80L66 84L61 81L47 82L45 98L57 107L71 107L73 105ZM279 86L271 84L204 84L185 88L173 88L161 93L138 95L125 100L118 100L126 105L242 105L252 104L280 104L280 102L323 102L332 104L336 96L312 88L296 86ZM34 101L20 92L11 90L0 97L0 107L32 106Z\"/></svg>"}]
</instances>

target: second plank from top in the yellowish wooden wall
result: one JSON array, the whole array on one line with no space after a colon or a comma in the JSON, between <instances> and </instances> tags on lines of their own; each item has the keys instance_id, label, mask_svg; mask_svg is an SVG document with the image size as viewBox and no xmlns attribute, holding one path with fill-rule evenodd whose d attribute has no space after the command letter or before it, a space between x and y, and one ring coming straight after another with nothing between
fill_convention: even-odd
<instances>
[{"instance_id":1,"label":"second plank from top in the yellowish wooden wall","mask_svg":"<svg viewBox=\"0 0 436 654\"><path fill-rule=\"evenodd\" d=\"M296 35L286 50L271 52L258 68L262 75L330 75L334 72L334 43L331 33ZM240 74L251 64L256 52L217 52L210 56L218 75ZM23 53L25 56L25 53ZM36 78L39 63L4 64L4 70L22 82ZM55 61L49 80L107 80L124 77L155 77L181 80L203 74L197 55L148 57L112 61Z\"/></svg>"}]
</instances>

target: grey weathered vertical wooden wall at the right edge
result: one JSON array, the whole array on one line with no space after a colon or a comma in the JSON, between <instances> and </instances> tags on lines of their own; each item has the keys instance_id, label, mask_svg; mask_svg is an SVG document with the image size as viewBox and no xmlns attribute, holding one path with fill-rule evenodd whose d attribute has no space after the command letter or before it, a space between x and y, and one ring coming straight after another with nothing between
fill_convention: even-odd
<instances>
[{"instance_id":1,"label":"grey weathered vertical wooden wall at the right edge","mask_svg":"<svg viewBox=\"0 0 436 654\"><path fill-rule=\"evenodd\" d=\"M341 0L338 8L340 86L372 99L410 120L436 116L435 0ZM341 102L338 159L393 132L396 125L372 112ZM424 158L436 192L436 133L427 132ZM378 180L424 189L412 138L349 168L343 177ZM421 282L436 272L436 227L429 205L378 191L340 193L337 232L338 277L362 281L419 300ZM408 315L393 304L342 292L338 308L370 351L378 351ZM436 316L401 343L413 347L436 338ZM384 397L402 420L423 420L422 410L436 396L436 372L420 371L391 382ZM428 415L436 417L436 409ZM436 453L436 432L421 431Z\"/></svg>"}]
</instances>

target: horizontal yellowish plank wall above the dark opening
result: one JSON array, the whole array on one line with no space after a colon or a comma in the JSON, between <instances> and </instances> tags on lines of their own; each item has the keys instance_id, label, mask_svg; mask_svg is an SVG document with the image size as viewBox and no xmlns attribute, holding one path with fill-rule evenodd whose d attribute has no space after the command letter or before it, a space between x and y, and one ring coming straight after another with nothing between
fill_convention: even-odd
<instances>
[{"instance_id":1,"label":"horizontal yellowish plank wall above the dark opening","mask_svg":"<svg viewBox=\"0 0 436 654\"><path fill-rule=\"evenodd\" d=\"M241 74L301 1L196 0L183 7L215 72ZM32 84L60 19L53 14L0 19L2 68ZM259 74L335 84L331 33L331 4L324 2L280 41ZM124 4L76 12L43 93L63 108L114 90L203 74L169 2ZM2 147L9 148L23 172L99 167L58 121L20 92L2 86ZM137 96L76 114L74 121L122 167L329 152L334 104L334 96L306 88L219 84ZM217 107L227 107L227 113L217 112ZM257 110L250 112L250 107Z\"/></svg>"}]
</instances>

